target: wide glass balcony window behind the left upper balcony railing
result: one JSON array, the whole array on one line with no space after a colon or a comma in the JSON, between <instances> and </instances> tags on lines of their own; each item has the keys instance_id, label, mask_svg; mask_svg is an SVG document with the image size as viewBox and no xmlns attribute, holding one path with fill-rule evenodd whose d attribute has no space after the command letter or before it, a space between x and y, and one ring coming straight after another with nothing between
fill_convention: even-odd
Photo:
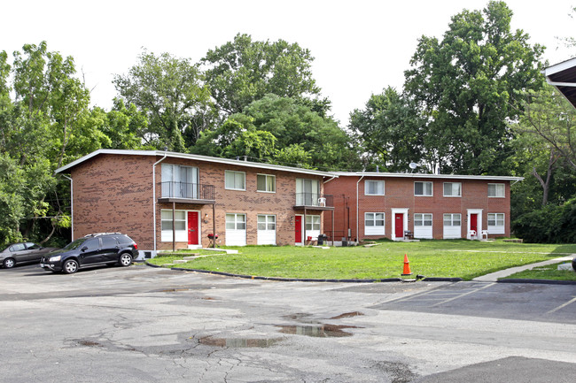
<instances>
[{"instance_id":1,"label":"wide glass balcony window behind the left upper balcony railing","mask_svg":"<svg viewBox=\"0 0 576 383\"><path fill-rule=\"evenodd\" d=\"M162 164L162 196L197 198L198 168Z\"/></svg>"}]
</instances>

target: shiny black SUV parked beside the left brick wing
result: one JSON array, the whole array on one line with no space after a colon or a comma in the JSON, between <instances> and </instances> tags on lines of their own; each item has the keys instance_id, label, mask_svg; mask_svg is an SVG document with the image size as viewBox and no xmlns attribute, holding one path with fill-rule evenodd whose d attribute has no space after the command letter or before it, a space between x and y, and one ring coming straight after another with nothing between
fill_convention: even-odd
<instances>
[{"instance_id":1,"label":"shiny black SUV parked beside the left brick wing","mask_svg":"<svg viewBox=\"0 0 576 383\"><path fill-rule=\"evenodd\" d=\"M121 264L129 266L138 257L138 245L120 233L89 234L51 251L40 260L40 267L51 272L72 274L85 267Z\"/></svg>"}]
</instances>

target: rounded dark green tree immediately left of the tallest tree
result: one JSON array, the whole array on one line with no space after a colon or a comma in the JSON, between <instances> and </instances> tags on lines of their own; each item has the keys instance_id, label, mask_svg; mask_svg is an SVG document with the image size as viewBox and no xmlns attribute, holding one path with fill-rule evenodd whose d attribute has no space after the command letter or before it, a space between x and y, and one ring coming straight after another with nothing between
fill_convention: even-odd
<instances>
[{"instance_id":1,"label":"rounded dark green tree immediately left of the tallest tree","mask_svg":"<svg viewBox=\"0 0 576 383\"><path fill-rule=\"evenodd\" d=\"M376 157L376 163L396 172L425 157L424 124L407 97L394 88L385 88L381 94L370 96L365 109L350 113L349 127L367 154Z\"/></svg>"}]
</instances>

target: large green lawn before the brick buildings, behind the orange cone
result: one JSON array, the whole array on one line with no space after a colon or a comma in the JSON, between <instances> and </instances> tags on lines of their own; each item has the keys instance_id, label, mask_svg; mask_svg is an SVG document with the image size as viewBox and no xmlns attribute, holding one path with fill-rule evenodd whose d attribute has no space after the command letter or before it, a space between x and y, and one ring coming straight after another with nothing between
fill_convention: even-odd
<instances>
[{"instance_id":1,"label":"large green lawn before the brick buildings, behind the orange cone","mask_svg":"<svg viewBox=\"0 0 576 383\"><path fill-rule=\"evenodd\" d=\"M378 241L364 248L300 248L294 246L246 246L239 254L225 255L203 251L199 257L177 267L230 272L234 274L309 279L399 278L404 254L409 257L413 276L463 278L522 264L532 264L576 253L576 244L542 245L504 241ZM180 253L179 253L180 254ZM169 264L177 256L155 257L152 264ZM413 278L413 277L412 277Z\"/></svg>"}]
</instances>

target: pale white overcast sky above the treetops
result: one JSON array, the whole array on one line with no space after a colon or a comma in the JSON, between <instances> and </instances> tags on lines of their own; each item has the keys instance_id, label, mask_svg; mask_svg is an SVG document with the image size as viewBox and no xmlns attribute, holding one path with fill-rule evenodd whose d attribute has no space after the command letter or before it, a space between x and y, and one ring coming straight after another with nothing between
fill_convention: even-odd
<instances>
[{"instance_id":1,"label":"pale white overcast sky above the treetops","mask_svg":"<svg viewBox=\"0 0 576 383\"><path fill-rule=\"evenodd\" d=\"M108 110L116 96L113 74L127 73L145 47L197 62L237 33L253 40L298 42L315 57L313 73L332 113L346 126L351 111L373 93L401 89L404 71L424 35L441 37L450 17L480 10L486 0L340 2L292 0L28 0L4 2L0 51L45 40L48 50L73 56L91 89L92 104ZM569 17L576 0L508 0L512 27L547 47L557 64L576 56L557 37L576 37ZM12 62L12 61L11 61Z\"/></svg>"}]
</instances>

